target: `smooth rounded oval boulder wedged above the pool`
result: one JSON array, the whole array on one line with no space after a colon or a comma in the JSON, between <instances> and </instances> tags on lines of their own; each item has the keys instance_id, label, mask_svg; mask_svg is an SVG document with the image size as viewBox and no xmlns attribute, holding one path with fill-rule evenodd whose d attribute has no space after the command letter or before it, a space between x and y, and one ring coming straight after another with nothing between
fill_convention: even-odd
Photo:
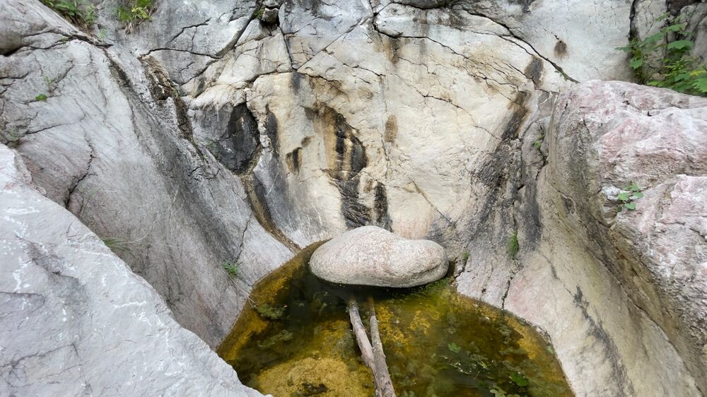
<instances>
[{"instance_id":1,"label":"smooth rounded oval boulder wedged above the pool","mask_svg":"<svg viewBox=\"0 0 707 397\"><path fill-rule=\"evenodd\" d=\"M405 239L377 226L334 237L310 259L312 273L329 282L395 288L439 280L448 266L440 244Z\"/></svg>"}]
</instances>

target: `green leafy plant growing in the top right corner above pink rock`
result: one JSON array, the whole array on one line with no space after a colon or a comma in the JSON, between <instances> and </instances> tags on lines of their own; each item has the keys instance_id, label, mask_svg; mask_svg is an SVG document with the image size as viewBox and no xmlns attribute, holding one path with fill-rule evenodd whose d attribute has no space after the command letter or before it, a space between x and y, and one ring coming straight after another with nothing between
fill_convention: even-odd
<instances>
[{"instance_id":1,"label":"green leafy plant growing in the top right corner above pink rock","mask_svg":"<svg viewBox=\"0 0 707 397\"><path fill-rule=\"evenodd\" d=\"M639 83L707 96L707 65L690 54L694 32L687 31L687 23L680 17L665 14L657 21L662 20L665 28L659 32L617 49L631 54L629 66ZM652 59L658 59L658 70L650 65Z\"/></svg>"}]
</instances>

